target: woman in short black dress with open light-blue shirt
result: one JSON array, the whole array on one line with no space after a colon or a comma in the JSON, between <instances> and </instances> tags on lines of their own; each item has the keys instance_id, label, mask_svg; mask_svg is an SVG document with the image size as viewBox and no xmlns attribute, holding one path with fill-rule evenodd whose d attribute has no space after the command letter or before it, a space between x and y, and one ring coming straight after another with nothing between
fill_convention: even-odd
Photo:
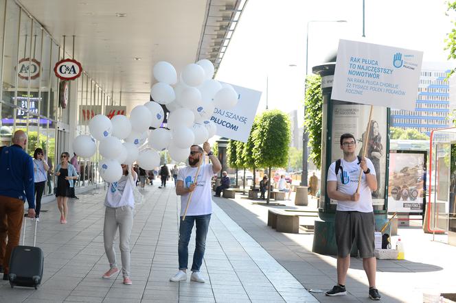
<instances>
[{"instance_id":1,"label":"woman in short black dress with open light-blue shirt","mask_svg":"<svg viewBox=\"0 0 456 303\"><path fill-rule=\"evenodd\" d=\"M62 152L60 163L56 167L54 175L57 176L57 206L60 211L60 223L66 224L68 217L68 198L71 197L71 187L74 187L74 180L78 179L76 169L69 162L69 153Z\"/></svg>"}]
</instances>

